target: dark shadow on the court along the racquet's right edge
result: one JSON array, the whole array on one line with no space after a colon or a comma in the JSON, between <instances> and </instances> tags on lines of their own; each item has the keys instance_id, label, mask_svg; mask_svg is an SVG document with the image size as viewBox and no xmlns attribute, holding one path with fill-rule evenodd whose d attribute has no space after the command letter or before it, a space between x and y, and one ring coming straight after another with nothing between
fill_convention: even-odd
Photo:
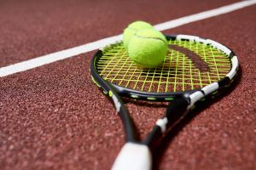
<instances>
[{"instance_id":1,"label":"dark shadow on the court along the racquet's right edge","mask_svg":"<svg viewBox=\"0 0 256 170\"><path fill-rule=\"evenodd\" d=\"M214 97L208 97L204 102L201 102L200 104L196 105L195 109L193 111L190 111L189 114L185 116L181 122L177 123L177 125L173 127L163 139L160 140L160 142L154 144L152 169L159 169L159 165L160 162L162 161L165 151L167 150L168 146L172 144L172 139L174 139L174 137L181 132L183 127L189 124L189 122L191 122L195 118L195 116L199 115L201 111L207 109L213 103L218 102L224 96L229 95L236 88L238 82L240 81L241 67L239 68L239 71L236 75L234 82L231 83L230 88L227 88L223 92L216 94Z\"/></svg>"}]
</instances>

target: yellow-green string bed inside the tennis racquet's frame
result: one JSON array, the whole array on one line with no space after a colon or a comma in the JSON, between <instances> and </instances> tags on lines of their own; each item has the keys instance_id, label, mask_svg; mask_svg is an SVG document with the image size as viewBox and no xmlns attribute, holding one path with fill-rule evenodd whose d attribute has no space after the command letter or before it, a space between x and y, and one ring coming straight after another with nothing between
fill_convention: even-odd
<instances>
[{"instance_id":1,"label":"yellow-green string bed inside the tennis racquet's frame","mask_svg":"<svg viewBox=\"0 0 256 170\"><path fill-rule=\"evenodd\" d=\"M144 92L177 92L203 88L229 73L226 54L201 42L170 40L169 44L187 48L208 66L201 71L186 54L168 48L165 61L153 69L142 69L129 58L122 42L105 48L96 62L99 74L108 82Z\"/></svg>"}]
</instances>

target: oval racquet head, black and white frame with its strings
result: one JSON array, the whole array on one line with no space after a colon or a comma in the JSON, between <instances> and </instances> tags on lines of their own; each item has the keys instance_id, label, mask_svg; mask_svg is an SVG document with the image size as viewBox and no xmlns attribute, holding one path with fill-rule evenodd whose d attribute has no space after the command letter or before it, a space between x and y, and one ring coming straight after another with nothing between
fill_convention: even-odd
<instances>
[{"instance_id":1,"label":"oval racquet head, black and white frame with its strings","mask_svg":"<svg viewBox=\"0 0 256 170\"><path fill-rule=\"evenodd\" d=\"M119 94L134 99L166 101L192 94L214 82L218 88L232 82L238 60L230 48L187 35L166 36L166 39L166 59L154 69L138 68L122 42L99 50L90 67L94 81L108 81Z\"/></svg>"}]
</instances>

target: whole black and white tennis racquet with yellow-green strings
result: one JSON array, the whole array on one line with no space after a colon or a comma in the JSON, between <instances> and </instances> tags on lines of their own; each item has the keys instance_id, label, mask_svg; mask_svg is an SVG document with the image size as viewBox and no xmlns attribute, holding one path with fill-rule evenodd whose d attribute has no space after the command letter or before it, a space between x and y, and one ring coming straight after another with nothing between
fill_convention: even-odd
<instances>
[{"instance_id":1,"label":"whole black and white tennis racquet with yellow-green strings","mask_svg":"<svg viewBox=\"0 0 256 170\"><path fill-rule=\"evenodd\" d=\"M123 42L96 52L90 63L93 82L113 100L125 130L126 143L113 170L146 170L152 167L152 145L195 108L199 101L230 86L239 65L236 54L224 45L189 35L166 36L166 59L154 69L140 69L128 57ZM121 97L168 101L166 113L143 141Z\"/></svg>"}]
</instances>

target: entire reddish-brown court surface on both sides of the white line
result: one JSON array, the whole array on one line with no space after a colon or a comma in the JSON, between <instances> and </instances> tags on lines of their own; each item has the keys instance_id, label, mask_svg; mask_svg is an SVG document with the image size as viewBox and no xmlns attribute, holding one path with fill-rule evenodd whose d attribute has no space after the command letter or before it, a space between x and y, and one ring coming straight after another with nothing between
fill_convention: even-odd
<instances>
[{"instance_id":1,"label":"entire reddish-brown court surface on both sides of the white line","mask_svg":"<svg viewBox=\"0 0 256 170\"><path fill-rule=\"evenodd\" d=\"M134 20L157 25L236 2L1 0L0 68L119 35ZM253 4L163 31L227 45L240 74L228 94L166 137L154 169L256 169L255 20ZM112 166L125 134L113 104L90 80L95 52L0 77L0 169ZM126 102L142 138L165 111Z\"/></svg>"}]
</instances>

